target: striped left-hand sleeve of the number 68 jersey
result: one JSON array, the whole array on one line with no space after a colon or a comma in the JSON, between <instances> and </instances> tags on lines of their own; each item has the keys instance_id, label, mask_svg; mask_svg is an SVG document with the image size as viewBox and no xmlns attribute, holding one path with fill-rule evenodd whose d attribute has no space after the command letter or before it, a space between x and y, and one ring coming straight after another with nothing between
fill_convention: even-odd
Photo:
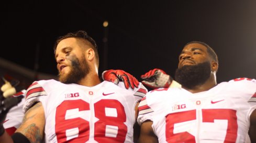
<instances>
[{"instance_id":1,"label":"striped left-hand sleeve of the number 68 jersey","mask_svg":"<svg viewBox=\"0 0 256 143\"><path fill-rule=\"evenodd\" d=\"M43 87L36 81L32 83L26 93L25 93L25 103L23 106L23 112L26 113L26 111L34 105L34 103L39 102L40 98L42 96L47 96L46 91L43 89Z\"/></svg>"}]
</instances>

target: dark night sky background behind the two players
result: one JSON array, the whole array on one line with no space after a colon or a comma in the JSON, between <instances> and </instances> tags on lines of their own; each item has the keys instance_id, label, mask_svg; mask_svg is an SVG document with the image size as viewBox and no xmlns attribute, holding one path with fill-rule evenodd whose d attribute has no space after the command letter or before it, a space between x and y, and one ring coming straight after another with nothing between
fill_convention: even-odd
<instances>
[{"instance_id":1,"label":"dark night sky background behind the two players","mask_svg":"<svg viewBox=\"0 0 256 143\"><path fill-rule=\"evenodd\" d=\"M174 76L183 46L202 41L219 57L218 83L256 79L253 0L1 1L0 11L0 57L38 72L57 75L55 39L85 30L98 45L99 74L122 69L141 81L141 74L160 68Z\"/></svg>"}]
</instances>

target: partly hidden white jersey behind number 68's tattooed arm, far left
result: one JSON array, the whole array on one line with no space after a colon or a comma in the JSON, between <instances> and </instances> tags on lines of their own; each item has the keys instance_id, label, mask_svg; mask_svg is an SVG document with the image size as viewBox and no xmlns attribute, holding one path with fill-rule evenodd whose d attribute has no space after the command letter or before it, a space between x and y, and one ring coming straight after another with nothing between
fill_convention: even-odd
<instances>
[{"instance_id":1,"label":"partly hidden white jersey behind number 68's tattooed arm, far left","mask_svg":"<svg viewBox=\"0 0 256 143\"><path fill-rule=\"evenodd\" d=\"M26 92L26 90L22 90L21 92L18 92L14 95L14 98L16 96L24 96L24 93ZM23 117L24 117L24 113L23 113L23 105L25 102L25 98L23 98L17 106L11 108L9 110L9 112L6 115L5 121L4 121L4 128L6 130L6 132L9 135L14 134L14 132L16 131L16 129L20 126Z\"/></svg>"}]
</instances>

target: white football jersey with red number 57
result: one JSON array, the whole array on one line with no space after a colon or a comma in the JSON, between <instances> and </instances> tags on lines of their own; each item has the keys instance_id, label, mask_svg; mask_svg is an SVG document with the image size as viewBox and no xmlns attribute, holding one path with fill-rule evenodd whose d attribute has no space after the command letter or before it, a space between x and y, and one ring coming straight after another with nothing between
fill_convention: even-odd
<instances>
[{"instance_id":1,"label":"white football jersey with red number 57","mask_svg":"<svg viewBox=\"0 0 256 143\"><path fill-rule=\"evenodd\" d=\"M250 142L256 81L241 78L192 94L179 87L149 92L139 104L138 123L153 121L159 142Z\"/></svg>"}]
</instances>

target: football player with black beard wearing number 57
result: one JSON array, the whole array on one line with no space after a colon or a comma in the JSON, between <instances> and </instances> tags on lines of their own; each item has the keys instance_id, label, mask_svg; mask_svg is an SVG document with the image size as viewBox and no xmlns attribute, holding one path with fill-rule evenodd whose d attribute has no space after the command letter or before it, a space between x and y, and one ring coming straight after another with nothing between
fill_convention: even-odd
<instances>
[{"instance_id":1,"label":"football player with black beard wearing number 57","mask_svg":"<svg viewBox=\"0 0 256 143\"><path fill-rule=\"evenodd\" d=\"M256 81L217 84L217 70L212 48L187 43L175 72L182 87L152 90L139 104L139 142L256 142Z\"/></svg>"}]
</instances>

